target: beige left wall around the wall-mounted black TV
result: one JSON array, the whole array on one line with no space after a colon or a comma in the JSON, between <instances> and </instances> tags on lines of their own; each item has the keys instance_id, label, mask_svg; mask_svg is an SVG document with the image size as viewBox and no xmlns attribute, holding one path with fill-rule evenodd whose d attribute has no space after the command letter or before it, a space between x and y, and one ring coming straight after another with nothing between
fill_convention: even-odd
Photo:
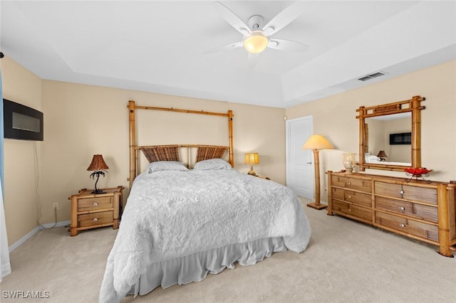
<instances>
[{"instance_id":1,"label":"beige left wall around the wall-mounted black TV","mask_svg":"<svg viewBox=\"0 0 456 303\"><path fill-rule=\"evenodd\" d=\"M0 64L3 97L42 110L41 79L7 56ZM4 206L9 245L37 226L40 203L36 187L38 171L43 171L42 147L43 142L4 140Z\"/></svg>"}]
</instances>

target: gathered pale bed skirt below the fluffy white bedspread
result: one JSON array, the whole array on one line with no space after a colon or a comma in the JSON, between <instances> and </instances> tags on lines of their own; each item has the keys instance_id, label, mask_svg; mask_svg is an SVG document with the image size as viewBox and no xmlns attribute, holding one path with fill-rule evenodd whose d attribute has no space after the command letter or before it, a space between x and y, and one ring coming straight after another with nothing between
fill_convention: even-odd
<instances>
[{"instance_id":1,"label":"gathered pale bed skirt below the fluffy white bedspread","mask_svg":"<svg viewBox=\"0 0 456 303\"><path fill-rule=\"evenodd\" d=\"M197 252L174 260L155 262L147 267L129 294L147 294L160 285L167 288L175 284L199 282L204 280L207 273L218 274L225 268L234 269L234 262L240 265L254 265L264 257L271 257L273 252L285 250L281 237L266 238Z\"/></svg>"}]
</instances>

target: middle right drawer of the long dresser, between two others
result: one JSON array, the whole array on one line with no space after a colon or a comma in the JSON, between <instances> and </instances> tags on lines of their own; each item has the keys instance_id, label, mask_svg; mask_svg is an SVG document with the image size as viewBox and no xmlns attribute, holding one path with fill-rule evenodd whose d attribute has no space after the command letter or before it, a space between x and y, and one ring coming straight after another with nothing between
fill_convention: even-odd
<instances>
[{"instance_id":1,"label":"middle right drawer of the long dresser, between two others","mask_svg":"<svg viewBox=\"0 0 456 303\"><path fill-rule=\"evenodd\" d=\"M375 208L392 211L394 213L402 213L406 216L428 220L435 223L438 222L437 207L434 206L426 206L418 203L376 196Z\"/></svg>"}]
</instances>

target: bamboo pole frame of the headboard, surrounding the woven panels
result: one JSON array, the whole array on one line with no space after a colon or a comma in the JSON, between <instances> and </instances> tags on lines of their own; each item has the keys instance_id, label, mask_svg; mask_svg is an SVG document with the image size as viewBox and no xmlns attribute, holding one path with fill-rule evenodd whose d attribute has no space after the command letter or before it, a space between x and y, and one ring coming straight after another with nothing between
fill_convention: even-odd
<instances>
[{"instance_id":1,"label":"bamboo pole frame of the headboard, surrounding the woven panels","mask_svg":"<svg viewBox=\"0 0 456 303\"><path fill-rule=\"evenodd\" d=\"M200 150L204 149L205 151L210 150L211 148L218 148L218 149L227 149L229 151L229 164L234 167L234 147L233 147L233 112L232 110L228 110L228 112L204 112L204 111L197 111L197 110L180 110L176 108L166 108L166 107L151 107L151 106L140 106L135 105L135 101L130 100L128 102L128 112L129 112L129 131L130 131L130 176L128 177L128 181L130 182L130 188L135 180L135 177L138 175L138 151L149 149L148 147L138 147L136 141L136 118L135 113L136 110L162 110L167 112L184 112L190 114L199 114L199 115L211 115L211 116L219 116L219 117L226 117L228 119L228 140L229 145L227 147L222 146L214 146L214 145L197 145L197 144L176 144L172 145L172 147L183 147L187 149L187 152L190 156L190 148L196 147L200 148ZM157 146L152 146L157 147ZM170 145L162 145L160 147L170 147ZM147 151L146 151L147 152ZM212 152L212 151L208 151ZM166 158L170 159L170 158ZM204 159L204 156L202 157ZM210 158L205 158L210 159Z\"/></svg>"}]
</instances>

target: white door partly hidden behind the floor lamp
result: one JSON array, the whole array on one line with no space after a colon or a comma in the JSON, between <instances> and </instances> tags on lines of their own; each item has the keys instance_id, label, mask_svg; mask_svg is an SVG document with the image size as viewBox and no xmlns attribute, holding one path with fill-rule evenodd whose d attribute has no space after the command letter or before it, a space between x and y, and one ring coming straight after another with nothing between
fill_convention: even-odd
<instances>
[{"instance_id":1,"label":"white door partly hidden behind the floor lamp","mask_svg":"<svg viewBox=\"0 0 456 303\"><path fill-rule=\"evenodd\" d=\"M312 134L312 116L286 120L286 186L314 200L314 154L302 149Z\"/></svg>"}]
</instances>

